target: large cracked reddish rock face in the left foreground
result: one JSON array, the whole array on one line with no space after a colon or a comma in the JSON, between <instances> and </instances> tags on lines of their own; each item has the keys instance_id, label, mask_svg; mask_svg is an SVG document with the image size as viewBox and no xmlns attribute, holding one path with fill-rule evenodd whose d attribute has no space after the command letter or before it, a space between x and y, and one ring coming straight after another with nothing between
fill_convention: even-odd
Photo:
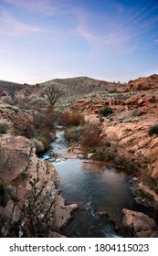
<instances>
[{"instance_id":1,"label":"large cracked reddish rock face in the left foreground","mask_svg":"<svg viewBox=\"0 0 158 256\"><path fill-rule=\"evenodd\" d=\"M58 175L22 136L0 135L2 237L37 237L53 227Z\"/></svg>"}]
</instances>

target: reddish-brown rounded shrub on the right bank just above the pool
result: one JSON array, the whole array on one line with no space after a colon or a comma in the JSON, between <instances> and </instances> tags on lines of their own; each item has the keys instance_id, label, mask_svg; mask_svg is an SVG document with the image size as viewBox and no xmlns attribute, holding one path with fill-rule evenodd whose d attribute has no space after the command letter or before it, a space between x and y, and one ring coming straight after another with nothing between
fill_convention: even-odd
<instances>
[{"instance_id":1,"label":"reddish-brown rounded shrub on the right bank just above the pool","mask_svg":"<svg viewBox=\"0 0 158 256\"><path fill-rule=\"evenodd\" d=\"M100 144L100 127L98 124L88 124L80 135L80 144L85 147L93 147Z\"/></svg>"}]
</instances>

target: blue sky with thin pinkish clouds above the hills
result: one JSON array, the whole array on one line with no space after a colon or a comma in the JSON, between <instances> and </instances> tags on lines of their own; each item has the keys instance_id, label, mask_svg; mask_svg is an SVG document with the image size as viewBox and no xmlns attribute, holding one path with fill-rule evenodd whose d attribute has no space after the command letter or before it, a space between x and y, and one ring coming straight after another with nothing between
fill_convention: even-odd
<instances>
[{"instance_id":1,"label":"blue sky with thin pinkish clouds above the hills","mask_svg":"<svg viewBox=\"0 0 158 256\"><path fill-rule=\"evenodd\" d=\"M0 80L158 74L158 0L0 0Z\"/></svg>"}]
</instances>

